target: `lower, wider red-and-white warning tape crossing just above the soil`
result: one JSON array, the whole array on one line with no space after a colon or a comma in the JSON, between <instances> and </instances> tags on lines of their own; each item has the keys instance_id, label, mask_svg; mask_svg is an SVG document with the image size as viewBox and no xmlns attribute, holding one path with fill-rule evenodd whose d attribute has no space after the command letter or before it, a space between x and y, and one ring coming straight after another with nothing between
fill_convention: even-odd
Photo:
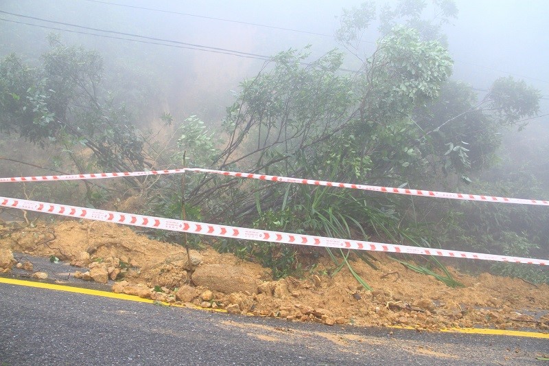
<instances>
[{"instance_id":1,"label":"lower, wider red-and-white warning tape crossing just above the soil","mask_svg":"<svg viewBox=\"0 0 549 366\"><path fill-rule=\"evenodd\" d=\"M172 220L154 216L142 216L124 214L115 211L104 211L100 209L89 209L85 207L74 207L58 205L56 203L45 203L37 201L19 200L15 198L0 197L0 206L26 209L29 211L44 212L74 218L87 218L117 224L132 225L138 227L150 227L170 231L196 233L223 238L234 238L244 240L257 240L262 242L278 242L283 244L309 245L313 247L330 247L341 249L358 249L365 251L384 251L390 253L408 253L421 255L438 255L441 257L470 258L476 260L493 260L499 262L515 262L526 264L539 264L548 266L549 260L533 258L507 257L504 255L491 255L482 253L470 253L466 251L449 251L445 249L431 249L421 247L409 247L407 245L385 244L379 242L364 242L358 240L344 240L338 238L325 238L322 236L310 236L295 233L283 233L279 231L266 231L259 229L247 229L244 227L233 227L227 225L207 224L204 222L192 222L184 220Z\"/></svg>"}]
</instances>

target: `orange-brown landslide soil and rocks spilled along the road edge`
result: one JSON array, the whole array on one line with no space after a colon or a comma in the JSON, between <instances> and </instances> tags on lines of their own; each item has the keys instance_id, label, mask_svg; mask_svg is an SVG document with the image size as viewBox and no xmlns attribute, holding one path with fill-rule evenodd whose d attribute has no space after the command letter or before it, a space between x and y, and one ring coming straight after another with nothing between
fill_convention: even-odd
<instances>
[{"instance_id":1,"label":"orange-brown landslide soil and rocks spilled along the road edge","mask_svg":"<svg viewBox=\"0 0 549 366\"><path fill-rule=\"evenodd\" d=\"M334 276L323 274L335 268L329 258L321 258L315 271L303 277L275 281L269 269L229 253L206 247L191 251L189 263L183 247L104 222L2 225L0 238L0 271L10 271L13 266L25 268L10 257L12 251L54 255L75 266L71 273L75 277L108 282L117 293L168 304L328 325L549 330L546 284L533 285L488 273L466 275L449 268L465 285L450 288L382 253L374 254L378 270L362 260L351 260L355 272L373 288L367 291L347 267Z\"/></svg>"}]
</instances>

